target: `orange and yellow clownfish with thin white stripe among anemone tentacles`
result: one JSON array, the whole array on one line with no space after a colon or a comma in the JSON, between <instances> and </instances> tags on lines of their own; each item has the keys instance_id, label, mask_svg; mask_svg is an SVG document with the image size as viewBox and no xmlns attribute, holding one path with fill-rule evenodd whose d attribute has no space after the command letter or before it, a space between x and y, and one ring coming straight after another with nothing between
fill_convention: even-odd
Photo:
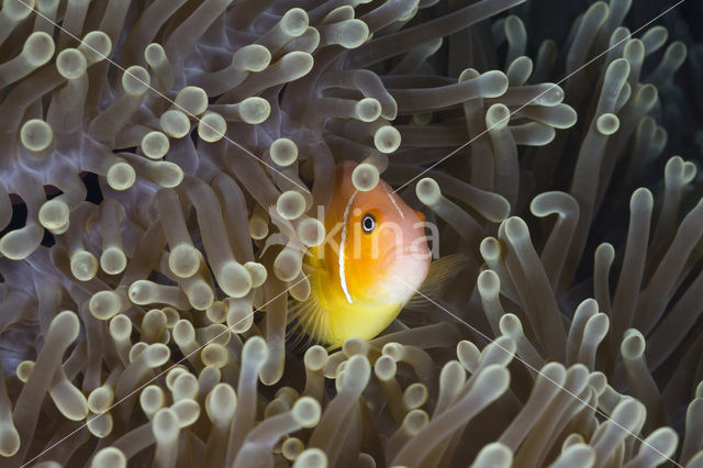
<instances>
[{"instance_id":1,"label":"orange and yellow clownfish with thin white stripe among anemone tentacles","mask_svg":"<svg viewBox=\"0 0 703 468\"><path fill-rule=\"evenodd\" d=\"M352 183L355 167L352 161L336 167L324 219L327 237L305 256L311 293L290 308L297 326L330 348L349 337L377 336L431 271L424 215L383 180L370 191L357 190ZM446 277L446 268L442 270L439 276Z\"/></svg>"}]
</instances>

